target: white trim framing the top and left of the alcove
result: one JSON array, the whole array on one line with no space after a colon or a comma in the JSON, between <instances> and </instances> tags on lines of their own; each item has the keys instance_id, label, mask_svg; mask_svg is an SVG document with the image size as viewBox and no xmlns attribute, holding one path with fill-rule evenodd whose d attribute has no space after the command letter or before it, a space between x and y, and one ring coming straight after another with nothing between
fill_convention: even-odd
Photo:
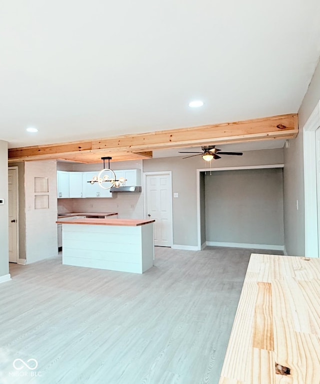
<instances>
[{"instance_id":1,"label":"white trim framing the top and left of the alcove","mask_svg":"<svg viewBox=\"0 0 320 384\"><path fill-rule=\"evenodd\" d=\"M197 213L197 238L198 244L196 250L200 251L205 244L201 244L201 216L200 216L200 172L214 171L237 171L241 169L265 169L265 168L283 168L284 164L266 164L266 165L244 165L239 167L217 167L217 168L200 168L196 170L196 213Z\"/></svg>"}]
</instances>

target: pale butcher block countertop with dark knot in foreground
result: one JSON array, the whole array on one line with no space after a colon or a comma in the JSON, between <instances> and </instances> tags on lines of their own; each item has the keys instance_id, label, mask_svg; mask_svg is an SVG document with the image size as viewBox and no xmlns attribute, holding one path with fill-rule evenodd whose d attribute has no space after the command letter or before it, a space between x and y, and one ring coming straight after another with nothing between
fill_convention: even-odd
<instances>
[{"instance_id":1,"label":"pale butcher block countertop with dark knot in foreground","mask_svg":"<svg viewBox=\"0 0 320 384\"><path fill-rule=\"evenodd\" d=\"M320 383L318 258L251 254L219 384L260 383Z\"/></svg>"}]
</instances>

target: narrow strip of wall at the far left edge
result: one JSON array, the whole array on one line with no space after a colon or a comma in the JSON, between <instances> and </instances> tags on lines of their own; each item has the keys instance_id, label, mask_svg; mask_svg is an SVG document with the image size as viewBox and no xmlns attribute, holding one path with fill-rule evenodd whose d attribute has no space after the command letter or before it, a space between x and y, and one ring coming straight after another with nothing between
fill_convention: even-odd
<instances>
[{"instance_id":1,"label":"narrow strip of wall at the far left edge","mask_svg":"<svg viewBox=\"0 0 320 384\"><path fill-rule=\"evenodd\" d=\"M7 142L0 140L0 281L9 278L9 245L8 245L8 147ZM2 276L2 279L1 279Z\"/></svg>"}]
</instances>

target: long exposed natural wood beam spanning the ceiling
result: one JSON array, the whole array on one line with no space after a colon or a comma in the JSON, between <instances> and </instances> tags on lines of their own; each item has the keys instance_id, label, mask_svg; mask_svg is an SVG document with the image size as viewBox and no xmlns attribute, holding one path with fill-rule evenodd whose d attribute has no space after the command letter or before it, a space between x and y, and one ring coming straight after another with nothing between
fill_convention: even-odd
<instances>
[{"instance_id":1,"label":"long exposed natural wood beam spanning the ceiling","mask_svg":"<svg viewBox=\"0 0 320 384\"><path fill-rule=\"evenodd\" d=\"M84 154L124 153L141 155L156 149L181 148L207 144L292 139L298 133L297 114L272 116L240 122L123 135L105 139L58 143L8 150L8 161L58 159ZM144 155L150 157L149 155ZM151 155L152 156L152 155Z\"/></svg>"}]
</instances>

